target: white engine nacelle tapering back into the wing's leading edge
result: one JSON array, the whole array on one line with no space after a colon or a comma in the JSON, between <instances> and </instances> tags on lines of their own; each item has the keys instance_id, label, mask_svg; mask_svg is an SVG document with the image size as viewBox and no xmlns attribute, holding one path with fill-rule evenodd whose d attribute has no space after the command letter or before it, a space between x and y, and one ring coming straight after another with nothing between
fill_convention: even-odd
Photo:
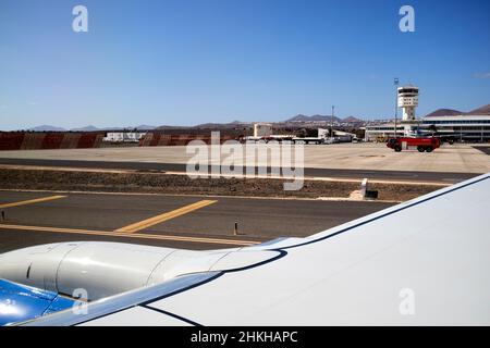
<instances>
[{"instance_id":1,"label":"white engine nacelle tapering back into the wing's leading edge","mask_svg":"<svg viewBox=\"0 0 490 348\"><path fill-rule=\"evenodd\" d=\"M184 274L243 268L277 256L256 248L192 251L105 241L60 243L0 254L0 278L97 300Z\"/></svg>"}]
</instances>

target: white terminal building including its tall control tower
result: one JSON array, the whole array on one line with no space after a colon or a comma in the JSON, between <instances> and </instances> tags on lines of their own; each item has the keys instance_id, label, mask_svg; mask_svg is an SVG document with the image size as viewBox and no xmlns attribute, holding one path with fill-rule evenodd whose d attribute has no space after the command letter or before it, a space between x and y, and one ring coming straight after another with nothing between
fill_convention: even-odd
<instances>
[{"instance_id":1,"label":"white terminal building including its tall control tower","mask_svg":"<svg viewBox=\"0 0 490 348\"><path fill-rule=\"evenodd\" d=\"M397 136L437 134L455 141L490 140L490 114L451 114L416 119L418 87L404 86L397 89L397 107L402 108L402 117L396 123ZM372 141L394 135L394 122L366 126L365 140Z\"/></svg>"}]
</instances>

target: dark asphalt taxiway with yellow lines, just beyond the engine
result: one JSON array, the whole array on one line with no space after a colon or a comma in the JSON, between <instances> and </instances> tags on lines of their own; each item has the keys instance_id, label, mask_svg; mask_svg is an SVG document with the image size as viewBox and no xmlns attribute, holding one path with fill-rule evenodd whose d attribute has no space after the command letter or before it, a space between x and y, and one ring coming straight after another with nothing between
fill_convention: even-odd
<instances>
[{"instance_id":1,"label":"dark asphalt taxiway with yellow lines, just beyond the engine","mask_svg":"<svg viewBox=\"0 0 490 348\"><path fill-rule=\"evenodd\" d=\"M196 250L244 247L279 237L309 236L390 206L365 201L0 191L0 253L73 240Z\"/></svg>"}]
</instances>

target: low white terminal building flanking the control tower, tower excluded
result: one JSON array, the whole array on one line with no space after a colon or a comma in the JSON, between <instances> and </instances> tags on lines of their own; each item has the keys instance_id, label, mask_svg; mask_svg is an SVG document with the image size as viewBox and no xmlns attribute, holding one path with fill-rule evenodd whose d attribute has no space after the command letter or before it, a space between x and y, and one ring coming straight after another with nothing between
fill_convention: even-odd
<instances>
[{"instance_id":1,"label":"low white terminal building flanking the control tower, tower excluded","mask_svg":"<svg viewBox=\"0 0 490 348\"><path fill-rule=\"evenodd\" d=\"M446 115L427 116L417 122L414 130L418 134L437 134L453 138L455 141L487 142L490 141L490 115ZM404 125L396 125L399 136L404 134ZM388 138L394 134L394 123L366 126L366 141Z\"/></svg>"}]
</instances>

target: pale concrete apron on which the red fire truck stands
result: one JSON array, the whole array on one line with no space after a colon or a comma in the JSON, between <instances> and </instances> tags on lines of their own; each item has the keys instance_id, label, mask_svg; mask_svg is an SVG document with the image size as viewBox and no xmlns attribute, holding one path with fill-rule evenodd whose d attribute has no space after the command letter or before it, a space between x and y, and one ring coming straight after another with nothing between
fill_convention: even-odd
<instances>
[{"instance_id":1,"label":"pale concrete apron on which the red fire truck stands","mask_svg":"<svg viewBox=\"0 0 490 348\"><path fill-rule=\"evenodd\" d=\"M279 151L281 156L286 156L291 151L299 151L302 159L298 164L307 169L308 176L347 176L355 178L366 176L366 174L382 175L395 179L458 179L467 178L467 175L455 177L456 174L444 175L445 173L473 173L482 174L490 172L488 154L480 151L476 145L443 145L431 153L419 153L417 150L406 150L395 152L387 148L385 144L332 144L332 145L305 145L301 147L285 146L282 149L264 144L246 144L238 147L223 145L221 147L187 147L187 146L157 146L157 147L110 147L90 149L59 149L59 150L15 150L0 151L0 159L7 160L65 160L65 161L87 161L87 162L118 162L117 166L130 166L137 163L136 169L142 170L164 170L182 171L186 163L196 156L204 161L203 164L219 165L228 159L226 153L233 151L233 163L244 166L268 166L271 163L271 156L258 156L258 153L275 153L278 160ZM210 156L212 153L212 156ZM206 159L207 158L207 159ZM0 162L7 163L7 162ZM14 162L22 163L22 162ZM24 162L25 163L25 162ZM38 162L39 163L39 162ZM47 162L44 162L47 163ZM48 162L49 163L49 162ZM147 163L147 164L143 164ZM275 162L277 163L277 162ZM90 165L86 163L86 165ZM110 165L97 163L97 166ZM140 166L139 166L140 165ZM275 164L278 165L278 164ZM309 169L333 170L313 171ZM346 170L346 172L344 172ZM359 172L360 171L360 172ZM385 176L380 171L388 172ZM407 172L411 172L408 174ZM426 172L436 174L425 176ZM414 174L412 174L414 173ZM444 173L444 174L442 174ZM414 176L417 175L417 176ZM369 177L373 179L373 177Z\"/></svg>"}]
</instances>

